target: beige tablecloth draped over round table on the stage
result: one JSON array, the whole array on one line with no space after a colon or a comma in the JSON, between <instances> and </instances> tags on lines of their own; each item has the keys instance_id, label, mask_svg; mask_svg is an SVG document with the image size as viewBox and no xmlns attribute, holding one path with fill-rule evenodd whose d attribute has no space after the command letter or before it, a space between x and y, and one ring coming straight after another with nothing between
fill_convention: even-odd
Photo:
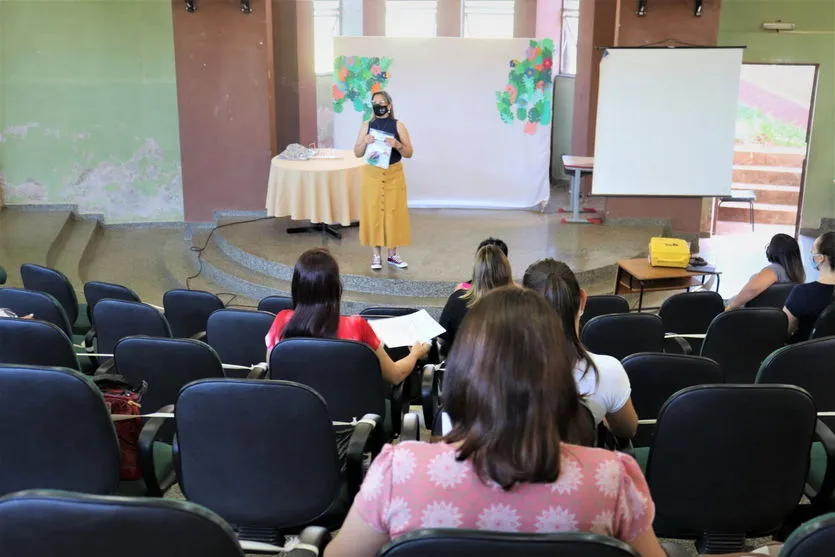
<instances>
[{"instance_id":1,"label":"beige tablecloth draped over round table on the stage","mask_svg":"<svg viewBox=\"0 0 835 557\"><path fill-rule=\"evenodd\" d=\"M267 187L269 216L343 226L359 220L365 160L347 149L326 149L320 154L340 158L273 158Z\"/></svg>"}]
</instances>

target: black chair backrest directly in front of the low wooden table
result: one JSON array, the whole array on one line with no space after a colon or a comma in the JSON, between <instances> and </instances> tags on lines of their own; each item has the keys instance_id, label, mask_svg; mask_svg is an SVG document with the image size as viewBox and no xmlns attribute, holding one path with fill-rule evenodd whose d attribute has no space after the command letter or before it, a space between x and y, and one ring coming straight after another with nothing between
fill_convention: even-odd
<instances>
[{"instance_id":1,"label":"black chair backrest directly in front of the low wooden table","mask_svg":"<svg viewBox=\"0 0 835 557\"><path fill-rule=\"evenodd\" d=\"M723 311L725 302L716 292L682 292L664 300L658 316L667 333L705 334L711 321ZM702 348L701 339L686 340L698 354Z\"/></svg>"}]
</instances>

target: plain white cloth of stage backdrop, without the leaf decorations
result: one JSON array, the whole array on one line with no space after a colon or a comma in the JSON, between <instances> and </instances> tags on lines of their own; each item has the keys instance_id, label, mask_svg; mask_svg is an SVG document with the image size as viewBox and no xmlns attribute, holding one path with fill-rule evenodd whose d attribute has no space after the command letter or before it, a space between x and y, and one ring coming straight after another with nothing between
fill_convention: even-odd
<instances>
[{"instance_id":1,"label":"plain white cloth of stage backdrop, without the leaf decorations","mask_svg":"<svg viewBox=\"0 0 835 557\"><path fill-rule=\"evenodd\" d=\"M391 58L385 89L415 149L403 160L410 207L520 208L548 200L550 119L526 133L525 123L503 122L497 108L510 63L525 59L529 41L334 39L337 58ZM550 107L550 86L546 93ZM334 114L334 146L353 148L362 122L346 103Z\"/></svg>"}]
</instances>

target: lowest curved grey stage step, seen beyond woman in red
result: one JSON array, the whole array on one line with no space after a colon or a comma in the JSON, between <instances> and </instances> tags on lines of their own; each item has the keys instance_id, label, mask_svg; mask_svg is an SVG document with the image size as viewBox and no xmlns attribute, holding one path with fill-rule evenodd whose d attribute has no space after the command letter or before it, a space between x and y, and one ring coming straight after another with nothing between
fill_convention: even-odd
<instances>
[{"instance_id":1,"label":"lowest curved grey stage step, seen beyond woman in red","mask_svg":"<svg viewBox=\"0 0 835 557\"><path fill-rule=\"evenodd\" d=\"M208 236L208 231L197 231L193 234L191 245L203 246ZM235 261L229 259L215 242L216 234L211 238L203 255L201 263L203 266L202 276L227 292L232 292L251 300L260 300L274 294L290 295L290 281L282 280L271 275L253 271ZM193 261L196 262L197 253L191 252ZM451 291L450 291L451 293ZM342 313L355 314L369 306L401 306L426 308L436 319L440 316L441 309L446 303L447 297L417 297L372 294L345 290L342 296Z\"/></svg>"}]
</instances>

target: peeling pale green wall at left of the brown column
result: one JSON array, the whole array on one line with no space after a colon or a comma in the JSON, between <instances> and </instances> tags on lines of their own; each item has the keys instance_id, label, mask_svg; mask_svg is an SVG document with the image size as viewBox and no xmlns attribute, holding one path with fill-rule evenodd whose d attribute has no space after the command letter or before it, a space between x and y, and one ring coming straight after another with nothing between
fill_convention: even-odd
<instances>
[{"instance_id":1,"label":"peeling pale green wall at left of the brown column","mask_svg":"<svg viewBox=\"0 0 835 557\"><path fill-rule=\"evenodd\" d=\"M183 218L170 0L0 0L6 203Z\"/></svg>"}]
</instances>

